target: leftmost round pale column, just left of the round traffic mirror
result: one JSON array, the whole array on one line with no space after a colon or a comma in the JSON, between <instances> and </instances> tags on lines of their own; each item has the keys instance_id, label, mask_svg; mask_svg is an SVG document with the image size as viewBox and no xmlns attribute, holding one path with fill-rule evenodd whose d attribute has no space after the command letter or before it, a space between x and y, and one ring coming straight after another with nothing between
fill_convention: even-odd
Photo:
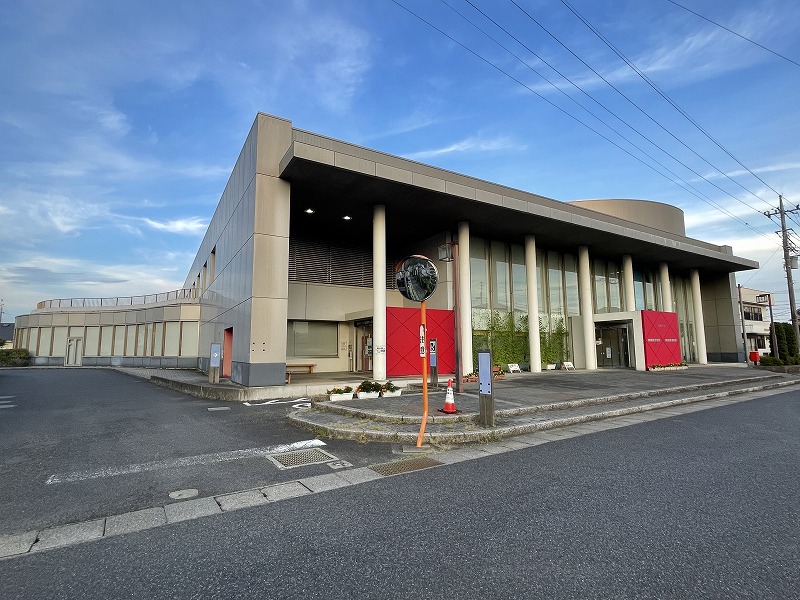
<instances>
[{"instance_id":1,"label":"leftmost round pale column, just left of the round traffic mirror","mask_svg":"<svg viewBox=\"0 0 800 600\"><path fill-rule=\"evenodd\" d=\"M372 214L372 378L386 379L386 207Z\"/></svg>"}]
</instances>

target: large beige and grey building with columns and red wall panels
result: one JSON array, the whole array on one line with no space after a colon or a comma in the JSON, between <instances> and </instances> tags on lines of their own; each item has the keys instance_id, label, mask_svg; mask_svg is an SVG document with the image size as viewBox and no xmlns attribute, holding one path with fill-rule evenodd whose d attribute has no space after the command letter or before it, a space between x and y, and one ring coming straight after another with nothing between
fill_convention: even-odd
<instances>
[{"instance_id":1,"label":"large beige and grey building with columns and red wall panels","mask_svg":"<svg viewBox=\"0 0 800 600\"><path fill-rule=\"evenodd\" d=\"M222 375L245 386L282 385L287 365L410 374L419 305L393 269L412 254L439 270L440 372L472 372L483 346L534 371L744 361L734 273L758 265L686 237L681 210L559 202L265 114L182 290L44 301L15 341L37 364L202 370L220 344Z\"/></svg>"}]
</instances>

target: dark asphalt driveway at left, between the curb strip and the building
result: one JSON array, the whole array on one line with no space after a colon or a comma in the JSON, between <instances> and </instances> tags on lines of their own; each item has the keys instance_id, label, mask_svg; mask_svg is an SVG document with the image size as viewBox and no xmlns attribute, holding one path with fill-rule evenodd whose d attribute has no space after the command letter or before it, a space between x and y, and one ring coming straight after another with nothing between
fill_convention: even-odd
<instances>
[{"instance_id":1,"label":"dark asphalt driveway at left, between the curb strip and the building","mask_svg":"<svg viewBox=\"0 0 800 600\"><path fill-rule=\"evenodd\" d=\"M0 369L0 535L163 506L179 490L213 496L330 473L225 460L313 439L282 418L294 403L199 400L110 369ZM325 443L355 466L392 457L388 445Z\"/></svg>"}]
</instances>

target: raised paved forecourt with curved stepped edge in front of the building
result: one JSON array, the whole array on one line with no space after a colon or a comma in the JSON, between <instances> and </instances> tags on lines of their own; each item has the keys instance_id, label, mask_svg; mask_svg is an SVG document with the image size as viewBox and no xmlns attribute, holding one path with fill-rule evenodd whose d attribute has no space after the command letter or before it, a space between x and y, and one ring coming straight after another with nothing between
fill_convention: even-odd
<instances>
[{"instance_id":1,"label":"raised paved forecourt with curved stepped edge in front of the building","mask_svg":"<svg viewBox=\"0 0 800 600\"><path fill-rule=\"evenodd\" d=\"M294 383L270 388L243 388L223 381L209 384L199 371L184 369L119 369L149 378L153 383L201 398L258 401L303 398L310 409L288 415L293 424L321 437L361 442L416 443L422 423L419 377L393 378L404 388L397 398L331 402L327 390L356 387L368 378L361 373L296 375ZM444 406L447 376L428 394L425 442L434 445L485 442L536 431L587 423L609 417L669 408L732 394L793 386L795 374L774 373L747 364L692 365L675 371L544 371L508 374L493 383L494 427L478 423L478 384L465 384L455 395L456 415L438 411Z\"/></svg>"}]
</instances>

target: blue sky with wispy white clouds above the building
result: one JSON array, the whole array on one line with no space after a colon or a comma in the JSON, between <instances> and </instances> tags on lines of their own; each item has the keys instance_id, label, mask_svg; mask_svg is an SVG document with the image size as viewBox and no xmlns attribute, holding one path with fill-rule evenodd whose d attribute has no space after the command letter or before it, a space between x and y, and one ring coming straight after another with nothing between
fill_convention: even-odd
<instances>
[{"instance_id":1,"label":"blue sky with wispy white clouds above the building","mask_svg":"<svg viewBox=\"0 0 800 600\"><path fill-rule=\"evenodd\" d=\"M258 111L557 200L677 205L788 319L761 213L800 203L800 66L668 0L569 0L715 143L561 0L398 2L441 31L392 0L2 3L3 320L181 287ZM795 0L681 4L800 63Z\"/></svg>"}]
</instances>

